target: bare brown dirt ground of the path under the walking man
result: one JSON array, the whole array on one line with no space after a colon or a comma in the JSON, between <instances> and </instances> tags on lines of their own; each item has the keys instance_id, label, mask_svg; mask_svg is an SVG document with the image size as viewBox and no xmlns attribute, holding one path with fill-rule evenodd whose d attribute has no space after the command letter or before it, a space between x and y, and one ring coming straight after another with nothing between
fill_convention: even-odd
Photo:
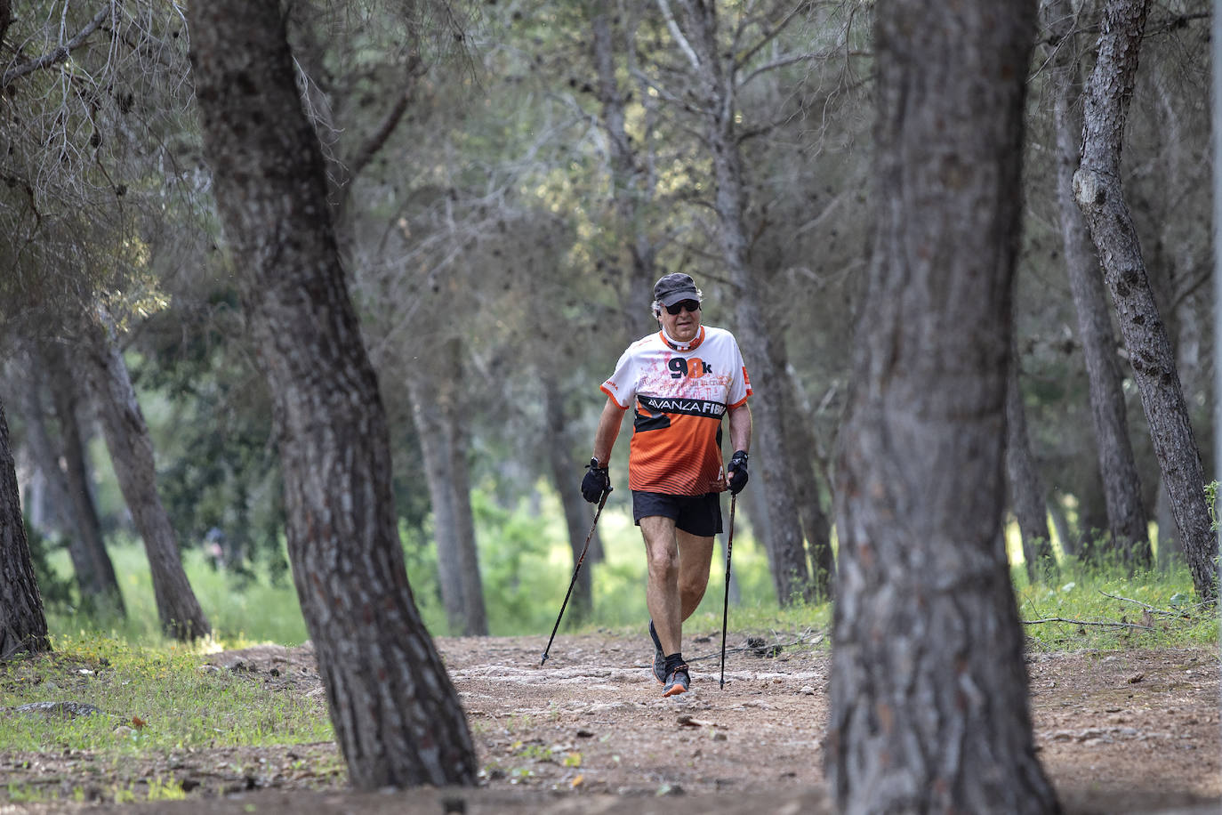
<instances>
[{"instance_id":1,"label":"bare brown dirt ground of the path under the walking man","mask_svg":"<svg viewBox=\"0 0 1222 815\"><path fill-rule=\"evenodd\" d=\"M442 638L479 754L474 789L354 793L324 743L132 760L121 770L128 788L169 780L186 800L116 804L88 755L0 745L0 815L831 813L822 772L831 656L821 639L731 641L721 689L720 630L695 632L686 649L692 692L664 699L644 632L560 634L545 668L538 637ZM308 645L200 662L235 683L314 699L326 715ZM1036 652L1028 670L1036 745L1067 813L1220 811L1216 650ZM12 783L45 784L60 800L5 803ZM84 800L72 803L73 791Z\"/></svg>"}]
</instances>

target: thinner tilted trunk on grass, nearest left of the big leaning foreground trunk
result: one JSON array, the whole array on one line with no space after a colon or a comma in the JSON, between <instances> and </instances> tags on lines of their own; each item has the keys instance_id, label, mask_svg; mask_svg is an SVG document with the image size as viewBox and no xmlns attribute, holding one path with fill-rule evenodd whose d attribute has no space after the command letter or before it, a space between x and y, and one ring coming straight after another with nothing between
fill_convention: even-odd
<instances>
[{"instance_id":1,"label":"thinner tilted trunk on grass, nearest left of the big leaning foreground trunk","mask_svg":"<svg viewBox=\"0 0 1222 815\"><path fill-rule=\"evenodd\" d=\"M99 318L109 320L105 314ZM115 345L114 326L94 324L86 330L81 369L89 382L115 478L144 540L161 629L180 640L205 637L211 627L187 580L178 535L158 494L153 441L127 364Z\"/></svg>"}]
</instances>

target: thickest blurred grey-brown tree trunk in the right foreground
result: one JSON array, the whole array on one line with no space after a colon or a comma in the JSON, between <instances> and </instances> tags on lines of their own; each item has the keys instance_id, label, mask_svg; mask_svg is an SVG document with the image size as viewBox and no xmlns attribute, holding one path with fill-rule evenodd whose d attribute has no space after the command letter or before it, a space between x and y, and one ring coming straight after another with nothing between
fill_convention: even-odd
<instances>
[{"instance_id":1,"label":"thickest blurred grey-brown tree trunk in the right foreground","mask_svg":"<svg viewBox=\"0 0 1222 815\"><path fill-rule=\"evenodd\" d=\"M840 811L1053 813L1000 528L1035 7L881 2L876 226L841 431Z\"/></svg>"}]
</instances>

